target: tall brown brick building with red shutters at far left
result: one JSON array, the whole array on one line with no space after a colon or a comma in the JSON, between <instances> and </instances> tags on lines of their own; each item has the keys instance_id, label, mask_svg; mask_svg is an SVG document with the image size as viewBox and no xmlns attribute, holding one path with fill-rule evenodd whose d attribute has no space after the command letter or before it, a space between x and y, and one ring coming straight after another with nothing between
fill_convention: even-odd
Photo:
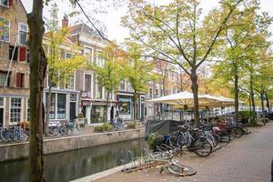
<instances>
[{"instance_id":1,"label":"tall brown brick building with red shutters at far left","mask_svg":"<svg viewBox=\"0 0 273 182\"><path fill-rule=\"evenodd\" d=\"M0 1L0 123L29 119L28 26L19 0Z\"/></svg>"}]
</instances>

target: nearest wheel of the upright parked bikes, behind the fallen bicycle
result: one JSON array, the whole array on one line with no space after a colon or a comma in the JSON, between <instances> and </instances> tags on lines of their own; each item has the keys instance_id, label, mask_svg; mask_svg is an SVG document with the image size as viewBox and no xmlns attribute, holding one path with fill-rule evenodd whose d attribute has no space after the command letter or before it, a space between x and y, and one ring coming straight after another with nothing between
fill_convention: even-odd
<instances>
[{"instance_id":1,"label":"nearest wheel of the upright parked bikes, behind the fallen bicycle","mask_svg":"<svg viewBox=\"0 0 273 182\"><path fill-rule=\"evenodd\" d=\"M212 152L212 145L207 137L199 136L190 146L190 149L193 150L198 157L208 157Z\"/></svg>"}]
</instances>

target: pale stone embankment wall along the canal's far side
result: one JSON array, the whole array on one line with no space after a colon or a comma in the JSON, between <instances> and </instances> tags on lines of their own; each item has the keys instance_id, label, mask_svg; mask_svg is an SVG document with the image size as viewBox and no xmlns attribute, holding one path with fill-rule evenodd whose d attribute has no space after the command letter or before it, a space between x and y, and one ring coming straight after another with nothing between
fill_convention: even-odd
<instances>
[{"instance_id":1,"label":"pale stone embankment wall along the canal's far side","mask_svg":"<svg viewBox=\"0 0 273 182\"><path fill-rule=\"evenodd\" d=\"M97 133L83 136L66 136L44 140L44 154L54 154L85 147L101 146L142 138L145 129L130 129L107 133ZM24 159L29 156L28 142L0 145L0 162Z\"/></svg>"}]
</instances>

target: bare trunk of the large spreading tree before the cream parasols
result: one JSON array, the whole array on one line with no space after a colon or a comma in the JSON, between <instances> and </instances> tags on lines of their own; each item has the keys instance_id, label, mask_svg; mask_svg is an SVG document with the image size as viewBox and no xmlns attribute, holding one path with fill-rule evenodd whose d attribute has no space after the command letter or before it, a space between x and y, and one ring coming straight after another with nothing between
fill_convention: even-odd
<instances>
[{"instance_id":1,"label":"bare trunk of the large spreading tree before the cream parasols","mask_svg":"<svg viewBox=\"0 0 273 182\"><path fill-rule=\"evenodd\" d=\"M197 85L197 73L196 70L193 70L191 75L191 90L194 96L194 117L195 124L199 126L199 103L198 103L198 85Z\"/></svg>"}]
</instances>

